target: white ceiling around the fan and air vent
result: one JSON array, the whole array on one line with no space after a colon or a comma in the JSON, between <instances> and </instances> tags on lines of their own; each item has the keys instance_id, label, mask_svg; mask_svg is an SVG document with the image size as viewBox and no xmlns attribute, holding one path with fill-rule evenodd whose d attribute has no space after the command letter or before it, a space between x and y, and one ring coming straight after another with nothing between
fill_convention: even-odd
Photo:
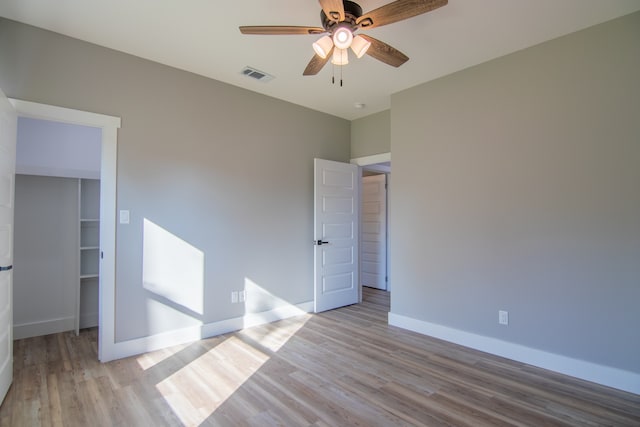
<instances>
[{"instance_id":1,"label":"white ceiling around the fan and air vent","mask_svg":"<svg viewBox=\"0 0 640 427\"><path fill-rule=\"evenodd\" d=\"M357 2L368 12L390 0ZM302 75L318 36L238 30L321 26L317 0L0 0L0 16L349 120L388 109L395 92L637 10L639 0L449 0L430 13L369 30L411 59L393 68L351 56L340 87L331 84L331 64L316 76ZM275 79L241 75L247 65Z\"/></svg>"}]
</instances>

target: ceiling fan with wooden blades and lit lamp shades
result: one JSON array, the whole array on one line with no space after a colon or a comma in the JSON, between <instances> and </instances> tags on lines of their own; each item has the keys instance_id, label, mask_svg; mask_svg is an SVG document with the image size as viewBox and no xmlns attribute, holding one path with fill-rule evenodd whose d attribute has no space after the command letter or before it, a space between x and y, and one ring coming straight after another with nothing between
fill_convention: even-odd
<instances>
[{"instance_id":1,"label":"ceiling fan with wooden blades and lit lamp shades","mask_svg":"<svg viewBox=\"0 0 640 427\"><path fill-rule=\"evenodd\" d=\"M324 34L313 43L316 54L302 73L305 76L318 74L329 59L336 65L347 64L349 48L358 58L366 53L385 64L399 67L409 60L408 56L380 40L356 32L430 12L446 5L448 0L396 0L364 14L357 3L349 0L319 0L319 3L322 27L242 26L240 32L256 35Z\"/></svg>"}]
</instances>

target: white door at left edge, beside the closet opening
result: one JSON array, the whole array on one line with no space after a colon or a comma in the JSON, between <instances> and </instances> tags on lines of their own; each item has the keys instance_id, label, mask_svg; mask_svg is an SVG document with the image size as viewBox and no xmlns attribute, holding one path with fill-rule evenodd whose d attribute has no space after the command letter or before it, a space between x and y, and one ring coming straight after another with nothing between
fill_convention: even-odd
<instances>
[{"instance_id":1,"label":"white door at left edge, beside the closet opening","mask_svg":"<svg viewBox=\"0 0 640 427\"><path fill-rule=\"evenodd\" d=\"M17 123L13 106L0 91L0 403L13 380L13 193Z\"/></svg>"}]
</instances>

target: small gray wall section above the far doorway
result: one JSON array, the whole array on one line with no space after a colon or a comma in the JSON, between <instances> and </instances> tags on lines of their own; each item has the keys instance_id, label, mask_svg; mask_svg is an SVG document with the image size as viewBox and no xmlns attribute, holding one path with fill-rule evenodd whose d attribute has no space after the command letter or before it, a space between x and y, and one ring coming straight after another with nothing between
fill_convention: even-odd
<instances>
[{"instance_id":1,"label":"small gray wall section above the far doorway","mask_svg":"<svg viewBox=\"0 0 640 427\"><path fill-rule=\"evenodd\" d=\"M391 110L351 122L351 158L391 151Z\"/></svg>"}]
</instances>

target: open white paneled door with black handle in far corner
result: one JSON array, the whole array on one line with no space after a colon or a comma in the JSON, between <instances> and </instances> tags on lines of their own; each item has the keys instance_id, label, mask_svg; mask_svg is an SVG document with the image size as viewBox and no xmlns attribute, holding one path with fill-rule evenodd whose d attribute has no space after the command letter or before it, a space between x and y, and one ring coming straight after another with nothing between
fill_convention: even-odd
<instances>
[{"instance_id":1,"label":"open white paneled door with black handle in far corner","mask_svg":"<svg viewBox=\"0 0 640 427\"><path fill-rule=\"evenodd\" d=\"M355 304L358 288L358 166L315 159L314 310Z\"/></svg>"}]
</instances>

